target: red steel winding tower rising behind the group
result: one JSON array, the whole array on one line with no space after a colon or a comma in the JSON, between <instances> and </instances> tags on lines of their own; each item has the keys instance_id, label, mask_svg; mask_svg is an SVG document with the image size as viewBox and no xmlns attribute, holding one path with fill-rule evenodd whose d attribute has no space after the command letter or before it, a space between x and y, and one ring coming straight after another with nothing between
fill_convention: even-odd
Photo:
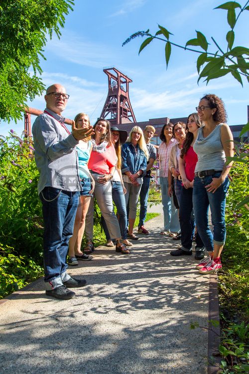
<instances>
[{"instance_id":1,"label":"red steel winding tower rising behind the group","mask_svg":"<svg viewBox=\"0 0 249 374\"><path fill-rule=\"evenodd\" d=\"M103 70L108 76L108 96L101 117L109 120L112 125L136 122L130 101L130 78L115 67Z\"/></svg>"}]
</instances>

